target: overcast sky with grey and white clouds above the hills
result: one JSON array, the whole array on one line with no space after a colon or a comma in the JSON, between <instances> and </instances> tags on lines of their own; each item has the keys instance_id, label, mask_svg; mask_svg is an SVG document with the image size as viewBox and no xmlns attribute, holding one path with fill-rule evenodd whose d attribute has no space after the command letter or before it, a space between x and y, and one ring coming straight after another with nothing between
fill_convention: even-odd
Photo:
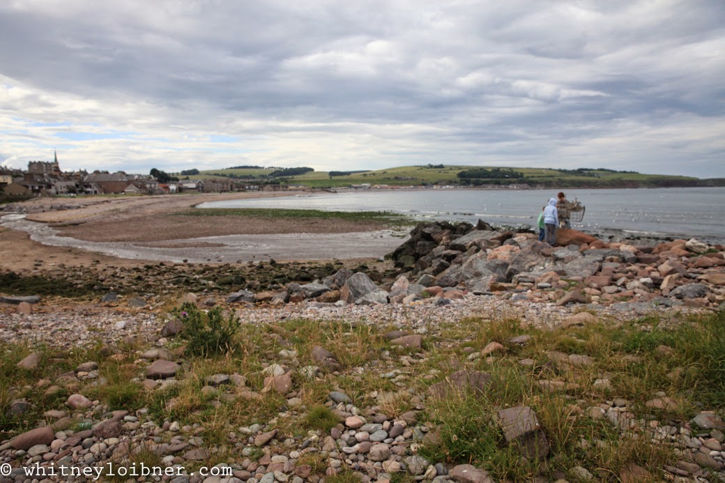
<instances>
[{"instance_id":1,"label":"overcast sky with grey and white clouds above the hills","mask_svg":"<svg viewBox=\"0 0 725 483\"><path fill-rule=\"evenodd\" d=\"M725 177L725 1L2 0L0 163Z\"/></svg>"}]
</instances>

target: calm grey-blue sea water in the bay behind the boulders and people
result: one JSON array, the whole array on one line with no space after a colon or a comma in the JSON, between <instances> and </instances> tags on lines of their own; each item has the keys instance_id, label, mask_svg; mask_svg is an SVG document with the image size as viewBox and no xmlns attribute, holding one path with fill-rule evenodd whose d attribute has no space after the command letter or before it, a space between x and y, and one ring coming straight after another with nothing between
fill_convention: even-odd
<instances>
[{"instance_id":1,"label":"calm grey-blue sea water in the bay behind the boulders and people","mask_svg":"<svg viewBox=\"0 0 725 483\"><path fill-rule=\"evenodd\" d=\"M346 191L210 202L203 208L269 207L390 211L418 219L534 227L558 190L415 189ZM586 207L577 228L592 234L697 238L725 243L725 188L569 189Z\"/></svg>"}]
</instances>

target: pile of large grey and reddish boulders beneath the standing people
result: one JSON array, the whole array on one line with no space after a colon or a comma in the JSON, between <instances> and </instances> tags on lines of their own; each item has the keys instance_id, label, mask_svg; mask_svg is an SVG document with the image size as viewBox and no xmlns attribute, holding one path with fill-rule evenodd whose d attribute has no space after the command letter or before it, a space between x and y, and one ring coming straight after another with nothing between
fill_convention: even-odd
<instances>
[{"instance_id":1,"label":"pile of large grey and reddish boulders beneath the standing people","mask_svg":"<svg viewBox=\"0 0 725 483\"><path fill-rule=\"evenodd\" d=\"M486 223L421 223L390 257L397 278L376 281L347 268L278 292L238 292L251 302L337 302L410 304L494 292L514 300L558 305L660 305L719 307L725 301L724 247L695 239L655 246L605 242L571 229L550 247L531 233L494 230ZM379 274L378 274L379 275Z\"/></svg>"}]
</instances>

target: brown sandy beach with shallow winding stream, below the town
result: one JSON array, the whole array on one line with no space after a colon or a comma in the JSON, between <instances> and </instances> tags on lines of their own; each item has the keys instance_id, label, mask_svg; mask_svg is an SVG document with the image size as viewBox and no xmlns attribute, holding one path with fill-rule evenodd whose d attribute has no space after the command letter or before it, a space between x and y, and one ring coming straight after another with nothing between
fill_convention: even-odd
<instances>
[{"instance_id":1,"label":"brown sandy beach with shallow winding stream, below the town","mask_svg":"<svg viewBox=\"0 0 725 483\"><path fill-rule=\"evenodd\" d=\"M404 234L394 234L376 221L175 215L202 202L295 194L299 193L33 199L3 212L3 267L28 271L38 260L69 266L88 265L92 260L133 266L149 260L236 263L269 258L377 258L402 242ZM7 223L7 214L18 211L22 220Z\"/></svg>"}]
</instances>

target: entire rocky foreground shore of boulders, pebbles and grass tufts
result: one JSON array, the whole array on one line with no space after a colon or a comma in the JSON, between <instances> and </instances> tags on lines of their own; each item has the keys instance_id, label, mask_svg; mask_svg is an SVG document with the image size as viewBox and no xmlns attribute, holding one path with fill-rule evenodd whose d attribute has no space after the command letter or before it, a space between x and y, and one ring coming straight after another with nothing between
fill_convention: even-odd
<instances>
[{"instance_id":1,"label":"entire rocky foreground shore of boulders, pebbles and grass tufts","mask_svg":"<svg viewBox=\"0 0 725 483\"><path fill-rule=\"evenodd\" d=\"M724 247L558 245L430 223L386 263L89 267L76 298L5 295L0 483L725 481L703 389ZM189 354L180 307L239 318L233 344Z\"/></svg>"}]
</instances>

